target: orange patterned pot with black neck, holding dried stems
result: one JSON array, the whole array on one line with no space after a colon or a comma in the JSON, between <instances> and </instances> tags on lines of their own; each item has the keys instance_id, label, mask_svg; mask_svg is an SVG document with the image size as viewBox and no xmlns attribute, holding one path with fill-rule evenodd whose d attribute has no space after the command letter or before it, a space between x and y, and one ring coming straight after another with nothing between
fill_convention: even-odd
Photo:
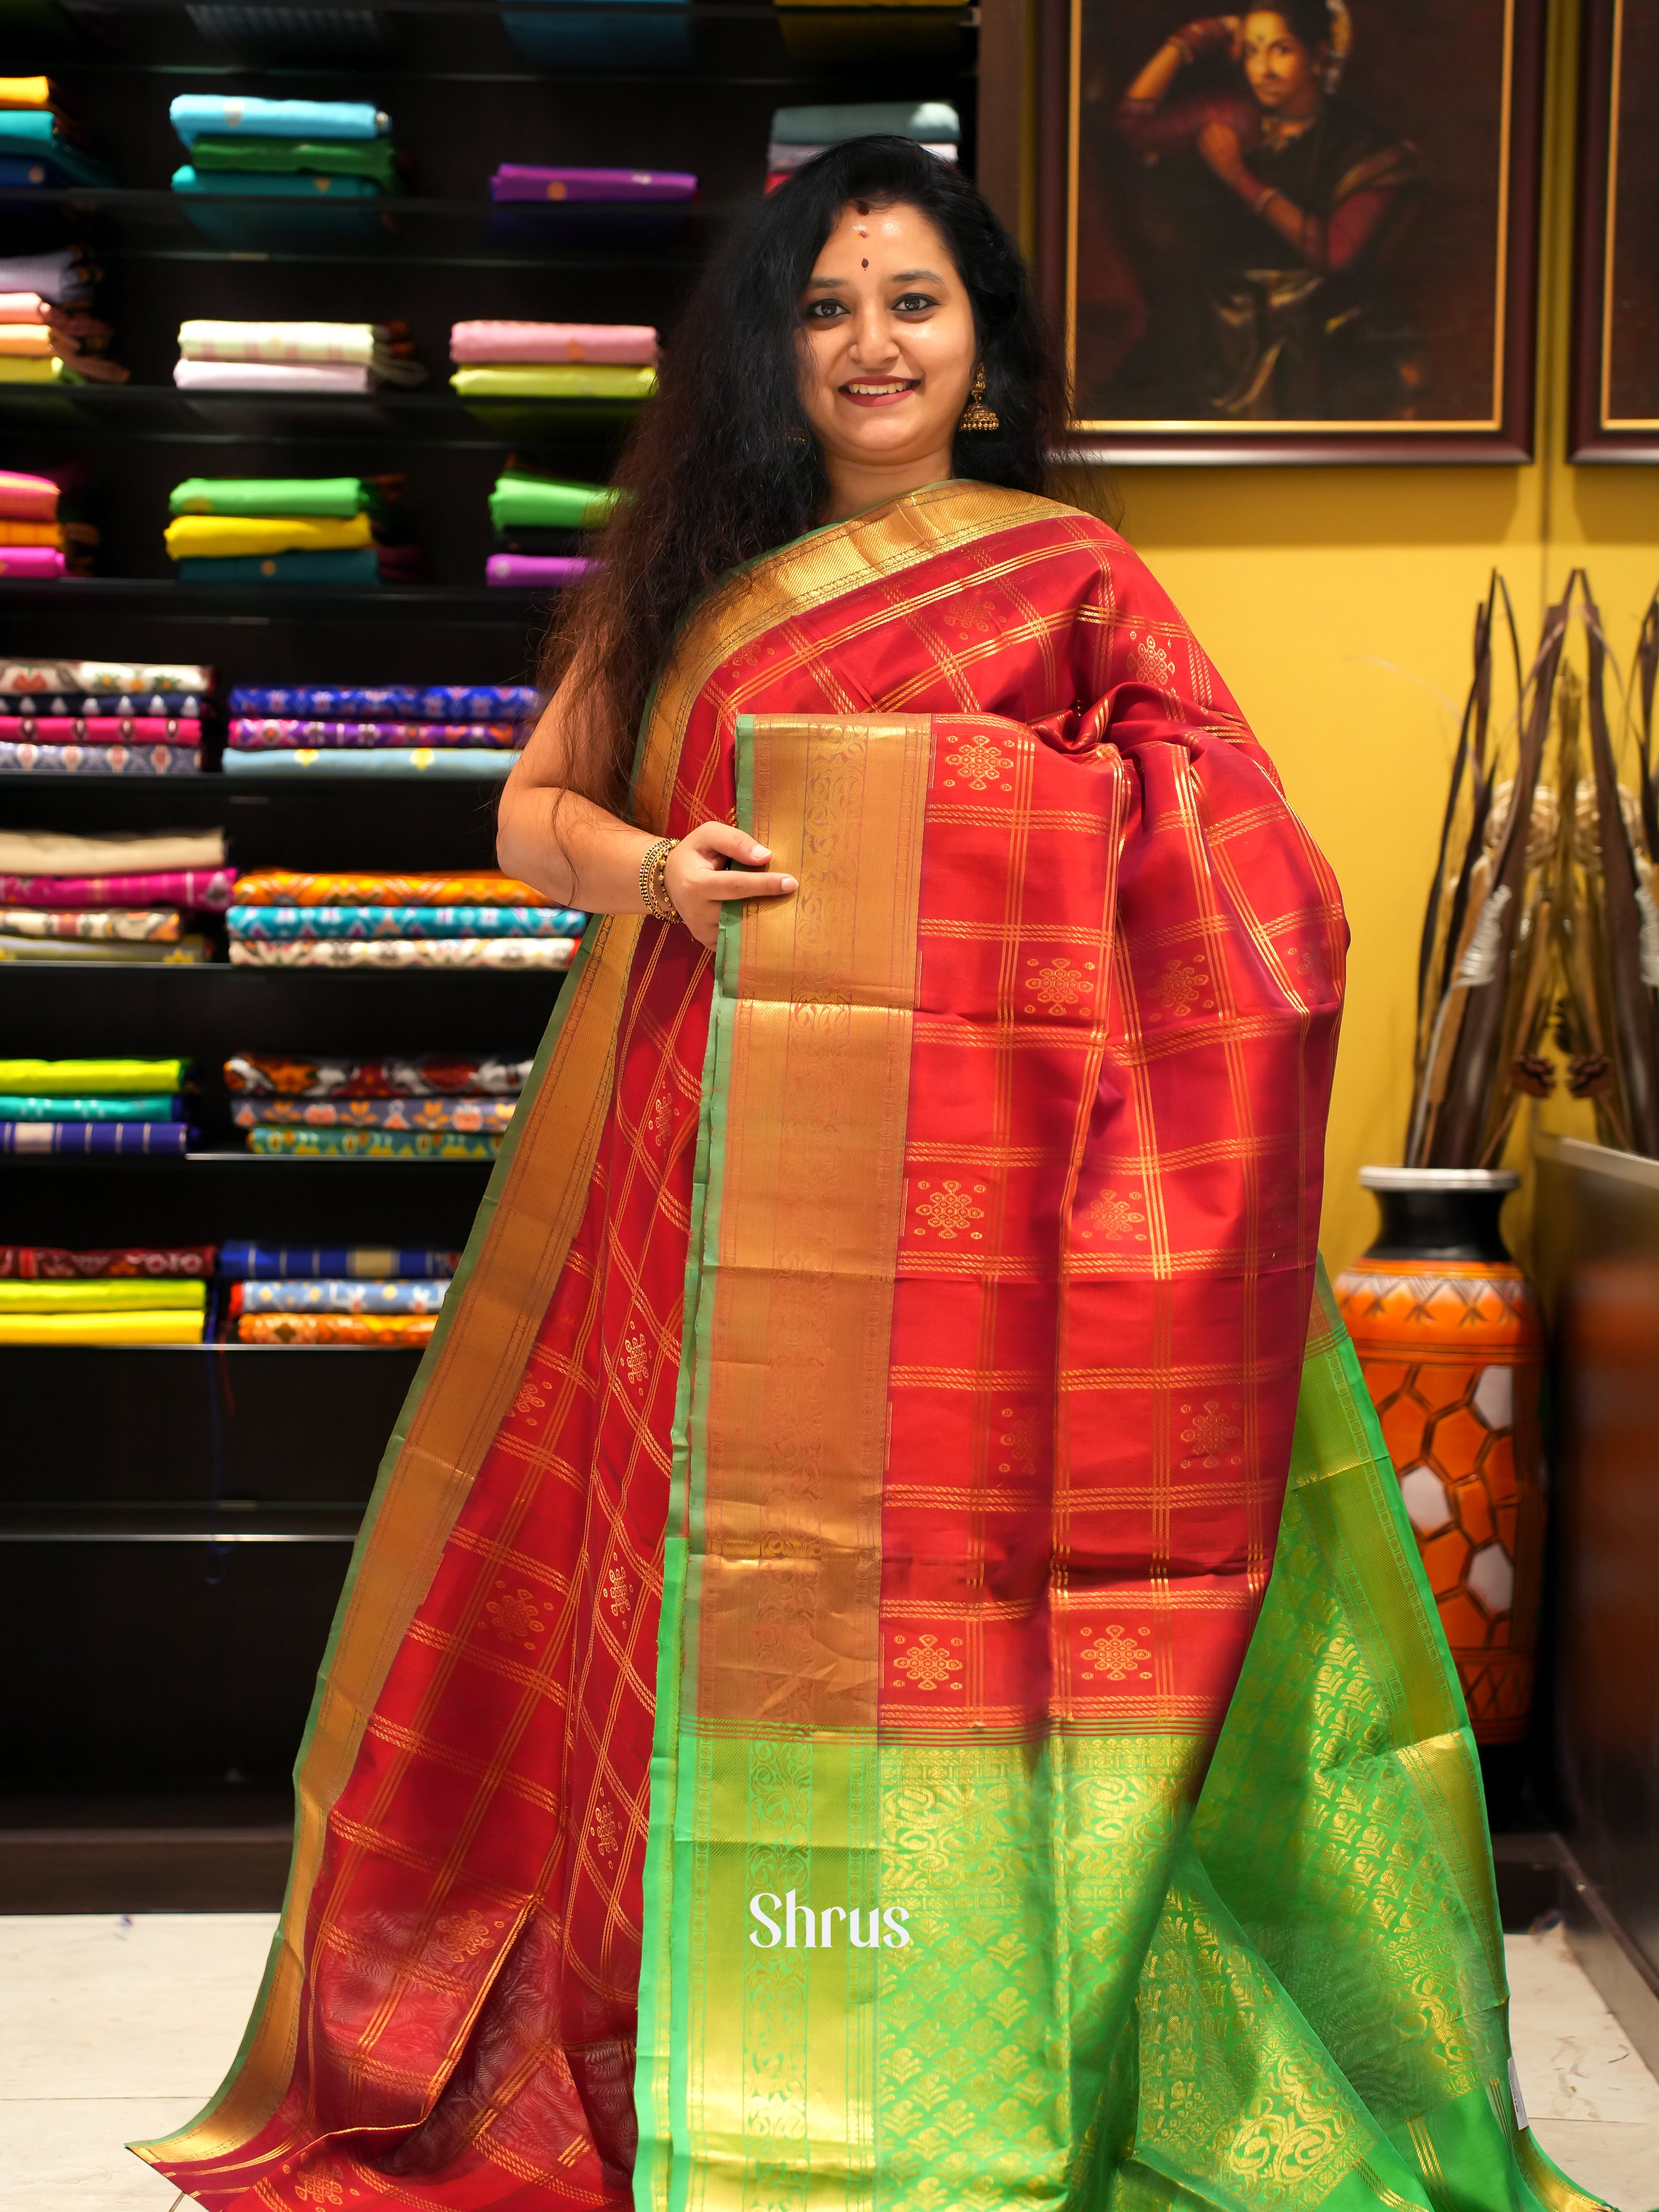
<instances>
[{"instance_id":1,"label":"orange patterned pot with black neck, holding dried stems","mask_svg":"<svg viewBox=\"0 0 1659 2212\"><path fill-rule=\"evenodd\" d=\"M1336 1281L1478 1743L1517 1743L1544 1582L1544 1318L1498 1234L1520 1177L1363 1168L1383 1234Z\"/></svg>"}]
</instances>

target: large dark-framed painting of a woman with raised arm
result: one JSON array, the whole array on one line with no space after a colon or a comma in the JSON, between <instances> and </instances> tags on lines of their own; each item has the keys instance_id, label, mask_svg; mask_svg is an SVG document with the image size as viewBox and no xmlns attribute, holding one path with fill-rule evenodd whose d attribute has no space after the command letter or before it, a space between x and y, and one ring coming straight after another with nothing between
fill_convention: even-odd
<instances>
[{"instance_id":1,"label":"large dark-framed painting of a woman with raised arm","mask_svg":"<svg viewBox=\"0 0 1659 2212\"><path fill-rule=\"evenodd\" d=\"M1531 458L1544 0L1040 4L1082 458Z\"/></svg>"}]
</instances>

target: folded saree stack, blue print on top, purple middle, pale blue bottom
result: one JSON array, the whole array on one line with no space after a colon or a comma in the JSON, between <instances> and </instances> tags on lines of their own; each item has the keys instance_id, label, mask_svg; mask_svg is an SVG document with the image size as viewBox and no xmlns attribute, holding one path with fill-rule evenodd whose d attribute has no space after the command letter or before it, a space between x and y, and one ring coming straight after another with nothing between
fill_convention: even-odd
<instances>
[{"instance_id":1,"label":"folded saree stack, blue print on top, purple middle, pale blue bottom","mask_svg":"<svg viewBox=\"0 0 1659 2212\"><path fill-rule=\"evenodd\" d=\"M535 710L524 684L243 684L230 692L223 765L261 776L504 776Z\"/></svg>"}]
</instances>

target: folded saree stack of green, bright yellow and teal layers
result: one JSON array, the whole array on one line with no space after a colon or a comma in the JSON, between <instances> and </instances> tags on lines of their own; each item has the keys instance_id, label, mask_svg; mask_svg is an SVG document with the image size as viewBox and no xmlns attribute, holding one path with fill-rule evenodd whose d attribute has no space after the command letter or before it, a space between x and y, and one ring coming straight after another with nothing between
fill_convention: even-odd
<instances>
[{"instance_id":1,"label":"folded saree stack of green, bright yellow and teal layers","mask_svg":"<svg viewBox=\"0 0 1659 2212\"><path fill-rule=\"evenodd\" d=\"M425 555L398 526L400 478L188 476L168 493L181 584L400 584Z\"/></svg>"}]
</instances>

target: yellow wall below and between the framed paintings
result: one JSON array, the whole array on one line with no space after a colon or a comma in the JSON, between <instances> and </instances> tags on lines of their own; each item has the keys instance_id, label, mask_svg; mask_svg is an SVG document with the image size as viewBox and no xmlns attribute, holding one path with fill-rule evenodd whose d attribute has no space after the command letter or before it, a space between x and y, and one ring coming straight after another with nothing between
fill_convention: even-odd
<instances>
[{"instance_id":1,"label":"yellow wall below and between the framed paintings","mask_svg":"<svg viewBox=\"0 0 1659 2212\"><path fill-rule=\"evenodd\" d=\"M1126 535L1343 883L1354 951L1325 1186L1332 1267L1371 1237L1358 1168L1400 1159L1416 945L1489 571L1509 580L1526 653L1544 593L1559 597L1575 564L1621 657L1659 580L1659 469L1564 460L1577 0L1551 15L1537 462L1117 473Z\"/></svg>"}]
</instances>

